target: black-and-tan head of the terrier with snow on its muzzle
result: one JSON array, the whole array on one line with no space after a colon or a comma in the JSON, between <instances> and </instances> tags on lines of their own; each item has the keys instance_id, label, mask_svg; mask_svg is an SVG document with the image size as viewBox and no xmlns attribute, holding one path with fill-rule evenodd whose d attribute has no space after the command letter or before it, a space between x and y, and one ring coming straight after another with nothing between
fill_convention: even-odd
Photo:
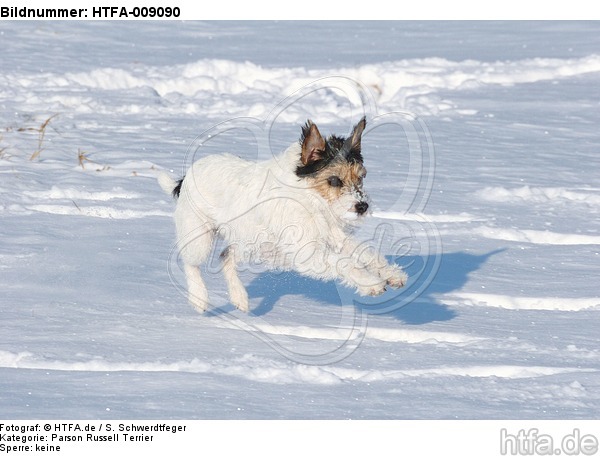
<instances>
[{"instance_id":1,"label":"black-and-tan head of the terrier with snow on its muzzle","mask_svg":"<svg viewBox=\"0 0 600 456\"><path fill-rule=\"evenodd\" d=\"M302 128L302 152L296 175L309 180L340 217L357 219L367 213L368 198L363 191L361 136L367 122L363 117L347 138L331 135L323 139L317 126L308 120Z\"/></svg>"}]
</instances>

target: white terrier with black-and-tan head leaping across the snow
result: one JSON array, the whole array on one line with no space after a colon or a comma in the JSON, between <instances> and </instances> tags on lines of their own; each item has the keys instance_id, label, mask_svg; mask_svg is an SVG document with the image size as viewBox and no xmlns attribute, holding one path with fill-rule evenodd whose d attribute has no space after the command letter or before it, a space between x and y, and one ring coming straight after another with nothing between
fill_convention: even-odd
<instances>
[{"instance_id":1,"label":"white terrier with black-and-tan head leaping across the snow","mask_svg":"<svg viewBox=\"0 0 600 456\"><path fill-rule=\"evenodd\" d=\"M324 139L310 120L300 140L281 155L250 162L230 154L195 162L179 181L162 173L161 187L177 199L177 247L190 303L209 299L200 274L215 237L231 303L248 311L248 293L236 266L260 262L321 280L339 280L361 295L376 296L407 280L397 265L350 236L368 212L363 191L363 117L347 138Z\"/></svg>"}]
</instances>

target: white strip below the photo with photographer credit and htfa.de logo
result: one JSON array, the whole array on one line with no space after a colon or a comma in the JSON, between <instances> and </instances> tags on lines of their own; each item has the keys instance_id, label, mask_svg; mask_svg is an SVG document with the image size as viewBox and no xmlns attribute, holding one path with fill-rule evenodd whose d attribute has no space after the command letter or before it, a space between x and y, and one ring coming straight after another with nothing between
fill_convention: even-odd
<instances>
[{"instance_id":1,"label":"white strip below the photo with photographer credit and htfa.de logo","mask_svg":"<svg viewBox=\"0 0 600 456\"><path fill-rule=\"evenodd\" d=\"M138 453L186 455L260 454L261 456L315 455L568 455L600 454L597 421L7 421L38 426L37 431L9 432L46 439L42 445L58 445L61 456ZM169 425L184 431L123 431L119 424ZM79 427L76 428L75 425ZM90 434L88 429L94 426ZM57 431L56 428L59 428ZM101 430L98 430L100 427ZM185 428L184 428L185 427ZM46 429L46 431L44 431ZM108 431L107 429L111 429ZM2 430L6 432L6 427ZM125 435L127 433L127 435ZM52 441L52 434L83 436L83 442ZM86 436L114 436L117 441L86 441ZM126 441L125 437L130 440ZM137 438L132 441L131 437ZM575 439L577 437L577 439ZM548 441L552 452L548 453ZM97 439L98 440L98 439ZM145 441L144 441L145 440ZM590 442L592 446L590 447ZM5 445L21 443L3 442ZM35 447L36 443L27 443ZM586 445L581 448L581 445ZM568 450L568 451L566 451ZM583 451L582 451L583 450ZM591 450L591 451L590 451ZM26 452L35 453L33 449ZM10 453L9 453L10 454ZM14 452L13 454L23 454Z\"/></svg>"}]
</instances>

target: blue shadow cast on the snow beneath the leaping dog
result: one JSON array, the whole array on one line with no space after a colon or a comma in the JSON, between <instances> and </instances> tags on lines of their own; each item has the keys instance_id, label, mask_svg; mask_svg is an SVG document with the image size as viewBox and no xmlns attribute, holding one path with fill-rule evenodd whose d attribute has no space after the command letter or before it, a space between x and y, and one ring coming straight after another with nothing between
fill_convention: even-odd
<instances>
[{"instance_id":1,"label":"blue shadow cast on the snow beneath the leaping dog","mask_svg":"<svg viewBox=\"0 0 600 456\"><path fill-rule=\"evenodd\" d=\"M301 296L324 305L337 306L352 299L354 305L367 314L389 316L406 324L447 321L454 318L456 312L440 303L437 296L461 289L469 280L469 274L502 251L495 250L483 255L455 252L436 258L388 258L402 266L409 281L405 288L386 291L377 298L362 298L341 285L307 278L295 272L267 272L258 275L247 287L251 300L262 298L251 313L255 316L266 315L283 297ZM342 300L342 295L345 300Z\"/></svg>"}]
</instances>

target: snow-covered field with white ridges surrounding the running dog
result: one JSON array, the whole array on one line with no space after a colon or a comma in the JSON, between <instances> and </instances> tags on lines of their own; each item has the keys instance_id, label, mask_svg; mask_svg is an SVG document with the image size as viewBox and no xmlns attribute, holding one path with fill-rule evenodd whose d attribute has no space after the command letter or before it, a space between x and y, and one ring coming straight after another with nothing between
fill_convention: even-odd
<instances>
[{"instance_id":1,"label":"snow-covered field with white ridges surrounding the running dog","mask_svg":"<svg viewBox=\"0 0 600 456\"><path fill-rule=\"evenodd\" d=\"M600 23L0 22L2 418L600 417ZM361 299L242 271L183 295L194 159L365 113L410 275Z\"/></svg>"}]
</instances>

